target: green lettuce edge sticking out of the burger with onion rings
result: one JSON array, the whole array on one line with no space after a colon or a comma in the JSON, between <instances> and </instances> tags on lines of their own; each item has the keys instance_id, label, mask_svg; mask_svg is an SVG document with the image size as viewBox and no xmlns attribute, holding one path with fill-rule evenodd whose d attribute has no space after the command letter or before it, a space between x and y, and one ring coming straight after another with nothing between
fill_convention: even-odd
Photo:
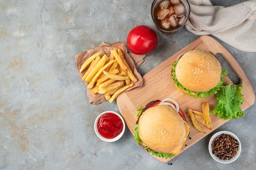
<instances>
[{"instance_id":1,"label":"green lettuce edge sticking out of the burger with onion rings","mask_svg":"<svg viewBox=\"0 0 256 170\"><path fill-rule=\"evenodd\" d=\"M162 153L162 152L155 152L153 150L151 150L150 148L148 148L147 146L144 146L143 144L143 141L141 141L140 137L139 137L139 124L136 124L133 129L135 130L135 136L133 137L139 145L141 145L148 153L151 153L152 155L155 155L157 157L160 157L160 158L171 158L173 156L175 156L174 154L171 154L171 153Z\"/></svg>"}]
</instances>

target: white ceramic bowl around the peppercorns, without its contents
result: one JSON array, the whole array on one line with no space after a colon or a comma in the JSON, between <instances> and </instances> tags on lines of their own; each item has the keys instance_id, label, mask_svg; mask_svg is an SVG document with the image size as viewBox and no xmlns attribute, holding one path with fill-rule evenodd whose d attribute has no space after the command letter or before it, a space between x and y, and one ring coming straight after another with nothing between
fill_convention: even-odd
<instances>
[{"instance_id":1,"label":"white ceramic bowl around the peppercorns, without its contents","mask_svg":"<svg viewBox=\"0 0 256 170\"><path fill-rule=\"evenodd\" d=\"M216 136L221 135L222 133L227 134L227 135L232 135L232 136L235 137L235 139L239 142L239 145L238 145L238 149L239 149L239 150L238 150L236 156L233 157L233 158L231 158L231 159L229 159L229 160L221 160L221 159L219 159L218 157L216 157L216 156L212 153L212 150L211 150L211 143L212 143L213 139L214 139ZM210 139L210 141L209 141L209 146L208 146L208 148L209 148L209 153L210 153L211 157L212 157L214 160L216 160L217 162L220 162L220 163L231 163L231 162L234 162L234 161L239 157L239 155L240 155L240 153L241 153L242 146L241 146L240 140L238 139L238 137L237 137L234 133L229 132L229 131L220 131L220 132L215 133L215 134L211 137L211 139Z\"/></svg>"}]
</instances>

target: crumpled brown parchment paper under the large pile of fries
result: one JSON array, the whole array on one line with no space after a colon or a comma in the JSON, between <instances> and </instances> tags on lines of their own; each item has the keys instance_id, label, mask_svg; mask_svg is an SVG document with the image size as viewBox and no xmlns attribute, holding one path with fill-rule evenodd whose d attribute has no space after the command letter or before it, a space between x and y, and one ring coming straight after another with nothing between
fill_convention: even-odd
<instances>
[{"instance_id":1,"label":"crumpled brown parchment paper under the large pile of fries","mask_svg":"<svg viewBox=\"0 0 256 170\"><path fill-rule=\"evenodd\" d=\"M75 55L76 70L77 70L78 74L80 75L80 77L83 77L83 74L86 71L86 69L85 69L82 73L80 73L80 68L83 65L83 63L85 62L85 60L87 60L90 56L92 56L94 53L97 53L97 52L102 52L109 56L111 49L117 50L118 48L121 49L122 53L124 54L124 58L125 58L126 62L128 63L128 65L130 66L130 68L132 70L132 73L135 75L135 77L138 80L137 82L135 82L134 86L132 86L131 88L128 88L126 91L129 91L130 89L138 87L138 86L142 86L143 79L142 79L141 75L137 72L136 68L144 61L143 58L146 55L136 55L133 53L128 53L126 44L124 44L123 42L115 42L113 44L106 44L105 42L102 42L98 47L96 47L94 49L90 49L88 51L84 51L82 53ZM86 87L89 84L89 82L84 82L84 83L85 83ZM92 90L92 88L87 88L87 96L88 96L89 102L91 104L99 104L99 103L107 101L103 94L97 93L96 95L94 95L91 92L91 90Z\"/></svg>"}]
</instances>

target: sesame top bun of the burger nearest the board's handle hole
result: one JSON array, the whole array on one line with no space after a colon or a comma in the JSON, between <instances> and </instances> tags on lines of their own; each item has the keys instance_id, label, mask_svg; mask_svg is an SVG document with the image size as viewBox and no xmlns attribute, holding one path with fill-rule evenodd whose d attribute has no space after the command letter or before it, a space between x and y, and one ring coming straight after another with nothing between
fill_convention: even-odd
<instances>
[{"instance_id":1,"label":"sesame top bun of the burger nearest the board's handle hole","mask_svg":"<svg viewBox=\"0 0 256 170\"><path fill-rule=\"evenodd\" d=\"M180 84L191 91L206 92L220 82L221 66L212 53L192 50L177 63L176 77Z\"/></svg>"}]
</instances>

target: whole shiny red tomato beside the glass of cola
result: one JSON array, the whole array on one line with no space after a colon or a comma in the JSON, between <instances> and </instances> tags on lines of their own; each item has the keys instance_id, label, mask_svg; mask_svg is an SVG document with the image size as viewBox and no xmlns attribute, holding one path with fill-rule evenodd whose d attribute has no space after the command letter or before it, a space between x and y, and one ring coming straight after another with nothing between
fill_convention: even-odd
<instances>
[{"instance_id":1,"label":"whole shiny red tomato beside the glass of cola","mask_svg":"<svg viewBox=\"0 0 256 170\"><path fill-rule=\"evenodd\" d=\"M149 26L136 26L127 36L127 46L134 54L150 53L157 46L157 34Z\"/></svg>"}]
</instances>

